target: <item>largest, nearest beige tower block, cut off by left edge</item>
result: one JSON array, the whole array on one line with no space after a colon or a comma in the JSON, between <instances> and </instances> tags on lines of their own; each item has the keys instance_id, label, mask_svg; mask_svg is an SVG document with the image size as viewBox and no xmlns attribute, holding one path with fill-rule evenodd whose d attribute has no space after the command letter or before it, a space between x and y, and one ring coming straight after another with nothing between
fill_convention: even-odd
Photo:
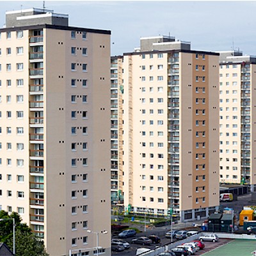
<instances>
[{"instance_id":1,"label":"largest, nearest beige tower block, cut off by left edge","mask_svg":"<svg viewBox=\"0 0 256 256\"><path fill-rule=\"evenodd\" d=\"M52 256L111 255L110 34L35 8L0 29L1 209Z\"/></svg>"}]
</instances>

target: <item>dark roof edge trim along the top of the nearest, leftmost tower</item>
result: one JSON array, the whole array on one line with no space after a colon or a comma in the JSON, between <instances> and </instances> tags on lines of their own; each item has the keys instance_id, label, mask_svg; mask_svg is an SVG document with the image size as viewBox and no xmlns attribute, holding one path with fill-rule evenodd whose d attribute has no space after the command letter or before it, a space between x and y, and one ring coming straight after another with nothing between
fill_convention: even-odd
<instances>
[{"instance_id":1,"label":"dark roof edge trim along the top of the nearest, leftmost tower","mask_svg":"<svg viewBox=\"0 0 256 256\"><path fill-rule=\"evenodd\" d=\"M28 29L33 30L33 29L42 29L42 28L70 30L70 31L86 31L86 32L90 32L90 33L111 35L111 31L110 30L91 29L91 28L79 28L79 27L70 27L70 26L56 26L56 25L50 25L50 24L35 25L35 26L20 26L20 27L12 27L12 28L1 28L0 32L17 31L17 30L28 30Z\"/></svg>"}]
</instances>

